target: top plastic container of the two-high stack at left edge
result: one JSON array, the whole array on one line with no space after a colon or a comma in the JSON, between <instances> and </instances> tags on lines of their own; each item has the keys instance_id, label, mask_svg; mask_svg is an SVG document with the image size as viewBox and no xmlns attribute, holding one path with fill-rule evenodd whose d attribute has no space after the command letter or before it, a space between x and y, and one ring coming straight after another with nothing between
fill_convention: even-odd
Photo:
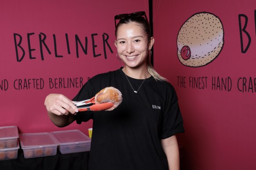
<instances>
[{"instance_id":1,"label":"top plastic container of the two-high stack at left edge","mask_svg":"<svg viewBox=\"0 0 256 170\"><path fill-rule=\"evenodd\" d=\"M18 137L17 126L0 127L0 149L17 147Z\"/></svg>"}]
</instances>

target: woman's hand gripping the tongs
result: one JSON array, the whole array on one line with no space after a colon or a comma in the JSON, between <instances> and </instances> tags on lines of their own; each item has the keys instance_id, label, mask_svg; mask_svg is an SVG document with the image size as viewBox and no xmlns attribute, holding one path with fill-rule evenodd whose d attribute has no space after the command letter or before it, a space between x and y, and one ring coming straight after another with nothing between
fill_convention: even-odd
<instances>
[{"instance_id":1,"label":"woman's hand gripping the tongs","mask_svg":"<svg viewBox=\"0 0 256 170\"><path fill-rule=\"evenodd\" d=\"M76 114L78 108L73 103L63 94L49 94L44 101L47 111L56 115Z\"/></svg>"}]
</instances>

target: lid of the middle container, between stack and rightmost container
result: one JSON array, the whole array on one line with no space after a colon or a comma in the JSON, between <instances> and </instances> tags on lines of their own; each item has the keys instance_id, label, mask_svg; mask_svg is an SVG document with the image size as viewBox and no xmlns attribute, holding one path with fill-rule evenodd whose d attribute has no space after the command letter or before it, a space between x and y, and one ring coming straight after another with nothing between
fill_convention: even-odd
<instances>
[{"instance_id":1,"label":"lid of the middle container, between stack and rightmost container","mask_svg":"<svg viewBox=\"0 0 256 170\"><path fill-rule=\"evenodd\" d=\"M50 133L21 133L19 136L21 148L58 146Z\"/></svg>"}]
</instances>

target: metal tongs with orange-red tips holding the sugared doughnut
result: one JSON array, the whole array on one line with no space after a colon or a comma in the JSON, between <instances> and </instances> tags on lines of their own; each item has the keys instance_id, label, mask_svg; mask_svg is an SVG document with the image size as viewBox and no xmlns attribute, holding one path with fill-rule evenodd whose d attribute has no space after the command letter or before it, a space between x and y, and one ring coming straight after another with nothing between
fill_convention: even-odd
<instances>
[{"instance_id":1,"label":"metal tongs with orange-red tips holding the sugared doughnut","mask_svg":"<svg viewBox=\"0 0 256 170\"><path fill-rule=\"evenodd\" d=\"M114 104L110 102L95 104L95 97L92 97L84 101L78 101L78 102L75 102L74 104L78 108L78 111L103 111L103 110L110 109L114 106ZM92 104L92 105L86 107L85 105L87 104Z\"/></svg>"}]
</instances>

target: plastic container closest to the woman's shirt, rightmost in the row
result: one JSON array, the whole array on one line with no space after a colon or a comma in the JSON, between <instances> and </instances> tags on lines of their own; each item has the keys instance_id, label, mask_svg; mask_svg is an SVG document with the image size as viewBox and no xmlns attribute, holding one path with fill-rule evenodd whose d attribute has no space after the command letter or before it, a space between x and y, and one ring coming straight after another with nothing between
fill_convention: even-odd
<instances>
[{"instance_id":1,"label":"plastic container closest to the woman's shirt, rightmost in the row","mask_svg":"<svg viewBox=\"0 0 256 170\"><path fill-rule=\"evenodd\" d=\"M85 152L91 149L91 139L80 130L51 132L58 141L60 153Z\"/></svg>"}]
</instances>

